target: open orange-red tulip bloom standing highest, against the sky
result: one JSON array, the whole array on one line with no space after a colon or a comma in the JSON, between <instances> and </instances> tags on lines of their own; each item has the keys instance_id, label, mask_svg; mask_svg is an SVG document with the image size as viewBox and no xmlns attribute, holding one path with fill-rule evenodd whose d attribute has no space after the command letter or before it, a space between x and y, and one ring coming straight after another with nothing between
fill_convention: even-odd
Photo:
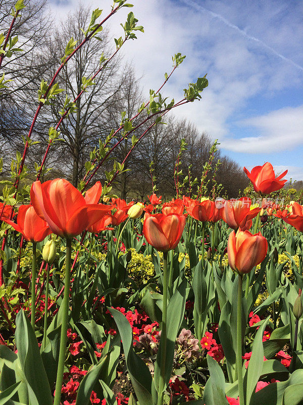
<instances>
[{"instance_id":1,"label":"open orange-red tulip bloom standing highest, against the sky","mask_svg":"<svg viewBox=\"0 0 303 405\"><path fill-rule=\"evenodd\" d=\"M280 190L287 180L281 180L288 172L285 170L280 176L275 177L274 168L271 163L266 162L263 166L256 166L249 173L244 167L248 179L254 184L254 190L260 194L269 194Z\"/></svg>"}]
</instances>

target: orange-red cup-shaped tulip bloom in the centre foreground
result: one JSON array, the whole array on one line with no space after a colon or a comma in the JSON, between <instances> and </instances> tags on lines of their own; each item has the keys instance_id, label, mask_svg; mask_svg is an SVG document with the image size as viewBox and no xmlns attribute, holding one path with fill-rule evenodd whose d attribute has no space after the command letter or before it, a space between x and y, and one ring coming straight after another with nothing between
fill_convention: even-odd
<instances>
[{"instance_id":1,"label":"orange-red cup-shaped tulip bloom in the centre foreground","mask_svg":"<svg viewBox=\"0 0 303 405\"><path fill-rule=\"evenodd\" d=\"M167 252L178 246L185 222L184 215L145 213L143 234L149 245L161 252Z\"/></svg>"}]
</instances>

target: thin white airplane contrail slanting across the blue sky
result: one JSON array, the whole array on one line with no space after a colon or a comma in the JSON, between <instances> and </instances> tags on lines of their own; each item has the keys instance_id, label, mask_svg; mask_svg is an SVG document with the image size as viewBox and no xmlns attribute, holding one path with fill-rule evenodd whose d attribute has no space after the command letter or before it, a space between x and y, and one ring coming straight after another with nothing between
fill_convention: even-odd
<instances>
[{"instance_id":1,"label":"thin white airplane contrail slanting across the blue sky","mask_svg":"<svg viewBox=\"0 0 303 405\"><path fill-rule=\"evenodd\" d=\"M277 51L275 51L273 48L271 48L270 46L266 45L263 41L261 41L261 39L256 38L256 36L252 36L252 35L248 35L244 30L242 30L241 28L239 28L237 25L232 24L231 22L229 22L228 20L226 20L226 18L224 18L223 16L221 16L220 14L214 13L213 11L210 11L208 9L206 9L203 6L200 6L196 3L194 3L191 0L181 0L182 3L185 3L188 6L194 7L196 10L201 10L201 11L205 11L207 13L209 13L212 17L214 18L218 18L220 21L222 21L225 25L227 25L229 28L232 28L234 30L236 30L237 32L239 32L239 34L241 34L242 36L244 36L245 38L249 39L250 41L254 41L257 42L258 44L262 45L263 48L267 49L268 51L270 51L272 54L276 55L277 57L279 57L280 59L284 60L285 62L290 63L292 66L296 67L297 69L303 71L303 67L298 65L297 63L295 63L293 60L286 58L284 55L279 54Z\"/></svg>"}]
</instances>

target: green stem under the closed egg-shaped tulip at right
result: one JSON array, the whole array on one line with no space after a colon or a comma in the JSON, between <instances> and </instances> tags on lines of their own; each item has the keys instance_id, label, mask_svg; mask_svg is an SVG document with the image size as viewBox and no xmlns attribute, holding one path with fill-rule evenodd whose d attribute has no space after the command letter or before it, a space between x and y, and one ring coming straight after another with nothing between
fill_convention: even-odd
<instances>
[{"instance_id":1,"label":"green stem under the closed egg-shaped tulip at right","mask_svg":"<svg viewBox=\"0 0 303 405\"><path fill-rule=\"evenodd\" d=\"M237 305L237 354L239 405L244 405L243 374L242 374L242 281L243 275L238 274L238 305Z\"/></svg>"}]
</instances>

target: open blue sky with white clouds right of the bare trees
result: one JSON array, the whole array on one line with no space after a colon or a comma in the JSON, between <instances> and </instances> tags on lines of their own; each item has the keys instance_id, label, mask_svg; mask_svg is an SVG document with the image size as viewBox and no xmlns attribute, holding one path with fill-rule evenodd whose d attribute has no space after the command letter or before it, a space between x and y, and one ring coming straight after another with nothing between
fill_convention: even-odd
<instances>
[{"instance_id":1,"label":"open blue sky with white clouds right of the bare trees","mask_svg":"<svg viewBox=\"0 0 303 405\"><path fill-rule=\"evenodd\" d=\"M145 33L126 44L148 94L171 69L171 55L185 61L163 94L182 98L182 89L208 73L199 102L178 109L200 131L219 139L223 153L251 168L270 161L286 178L303 180L303 2L289 0L129 0ZM66 18L76 0L49 0ZM109 11L108 0L85 2ZM130 9L109 23L119 23Z\"/></svg>"}]
</instances>

